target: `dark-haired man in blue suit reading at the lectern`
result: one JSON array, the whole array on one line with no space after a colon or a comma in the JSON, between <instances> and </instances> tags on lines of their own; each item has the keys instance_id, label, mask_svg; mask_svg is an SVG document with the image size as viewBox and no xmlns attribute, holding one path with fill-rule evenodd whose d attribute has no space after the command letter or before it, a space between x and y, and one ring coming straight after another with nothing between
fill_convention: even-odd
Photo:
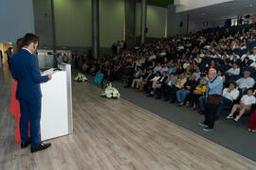
<instances>
[{"instance_id":1,"label":"dark-haired man in blue suit reading at the lectern","mask_svg":"<svg viewBox=\"0 0 256 170\"><path fill-rule=\"evenodd\" d=\"M40 83L51 79L50 75L41 76L38 59L33 53L36 51L39 38L27 33L23 38L23 48L10 59L11 75L18 81L16 97L20 102L21 118L20 130L22 144L30 151L44 150L50 144L43 144L40 140L41 98ZM28 137L28 121L30 122L30 138Z\"/></svg>"}]
</instances>

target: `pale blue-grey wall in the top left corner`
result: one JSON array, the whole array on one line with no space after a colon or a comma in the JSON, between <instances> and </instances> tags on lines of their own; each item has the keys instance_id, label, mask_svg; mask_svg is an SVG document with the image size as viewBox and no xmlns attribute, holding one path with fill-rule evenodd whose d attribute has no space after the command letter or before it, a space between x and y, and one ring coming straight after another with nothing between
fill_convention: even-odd
<instances>
[{"instance_id":1,"label":"pale blue-grey wall in the top left corner","mask_svg":"<svg viewBox=\"0 0 256 170\"><path fill-rule=\"evenodd\" d=\"M34 33L32 0L0 0L0 42L16 42Z\"/></svg>"}]
</instances>

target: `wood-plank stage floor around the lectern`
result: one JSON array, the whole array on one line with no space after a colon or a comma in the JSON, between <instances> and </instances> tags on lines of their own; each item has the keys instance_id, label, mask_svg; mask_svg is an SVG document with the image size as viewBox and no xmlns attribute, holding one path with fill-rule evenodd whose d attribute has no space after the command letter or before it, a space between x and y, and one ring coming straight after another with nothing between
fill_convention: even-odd
<instances>
[{"instance_id":1,"label":"wood-plank stage floor around the lectern","mask_svg":"<svg viewBox=\"0 0 256 170\"><path fill-rule=\"evenodd\" d=\"M14 141L11 82L1 75L0 170L256 169L255 161L128 101L101 98L101 89L88 82L73 82L74 134L31 154Z\"/></svg>"}]
</instances>

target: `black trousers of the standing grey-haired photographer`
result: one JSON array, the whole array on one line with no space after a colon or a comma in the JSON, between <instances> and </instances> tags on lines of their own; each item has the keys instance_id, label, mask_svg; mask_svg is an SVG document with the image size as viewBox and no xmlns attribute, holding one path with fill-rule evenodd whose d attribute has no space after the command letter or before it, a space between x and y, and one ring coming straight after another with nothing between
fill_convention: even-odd
<instances>
[{"instance_id":1,"label":"black trousers of the standing grey-haired photographer","mask_svg":"<svg viewBox=\"0 0 256 170\"><path fill-rule=\"evenodd\" d=\"M215 116L217 112L218 106L214 105L205 105L205 124L208 125L208 127L213 128L215 123Z\"/></svg>"}]
</instances>

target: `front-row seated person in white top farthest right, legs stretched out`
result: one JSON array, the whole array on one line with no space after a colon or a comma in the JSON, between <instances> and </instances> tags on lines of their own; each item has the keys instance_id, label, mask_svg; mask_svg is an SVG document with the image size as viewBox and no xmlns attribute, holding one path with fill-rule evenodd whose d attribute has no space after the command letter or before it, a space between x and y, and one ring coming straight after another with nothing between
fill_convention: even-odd
<instances>
[{"instance_id":1,"label":"front-row seated person in white top farthest right, legs stretched out","mask_svg":"<svg viewBox=\"0 0 256 170\"><path fill-rule=\"evenodd\" d=\"M231 112L229 113L229 116L227 117L227 119L233 119L233 114L235 113L236 110L240 110L239 114L236 116L236 118L234 119L235 121L238 121L241 116L246 112L249 111L251 109L251 105L256 103L256 98L253 95L253 89L250 88L247 90L247 94L243 95L243 97L240 100L240 104L236 104L233 106Z\"/></svg>"}]
</instances>

